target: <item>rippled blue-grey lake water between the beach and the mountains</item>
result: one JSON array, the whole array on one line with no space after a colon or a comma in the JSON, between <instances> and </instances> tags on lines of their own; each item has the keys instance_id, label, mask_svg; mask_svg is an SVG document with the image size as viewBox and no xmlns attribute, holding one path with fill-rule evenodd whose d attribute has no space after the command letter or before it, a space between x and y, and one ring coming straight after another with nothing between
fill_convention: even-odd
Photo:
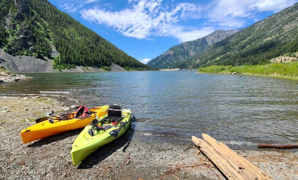
<instances>
[{"instance_id":1,"label":"rippled blue-grey lake water between the beach and the mountains","mask_svg":"<svg viewBox=\"0 0 298 180\"><path fill-rule=\"evenodd\" d=\"M190 71L26 75L34 78L2 84L0 94L66 95L88 107L120 103L135 114L136 130L154 134L298 142L295 80Z\"/></svg>"}]
</instances>

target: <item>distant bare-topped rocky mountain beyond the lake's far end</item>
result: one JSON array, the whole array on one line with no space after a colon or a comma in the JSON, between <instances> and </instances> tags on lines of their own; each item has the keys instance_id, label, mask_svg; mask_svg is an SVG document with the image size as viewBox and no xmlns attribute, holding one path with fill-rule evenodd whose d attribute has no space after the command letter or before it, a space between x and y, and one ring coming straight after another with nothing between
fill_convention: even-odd
<instances>
[{"instance_id":1,"label":"distant bare-topped rocky mountain beyond the lake's far end","mask_svg":"<svg viewBox=\"0 0 298 180\"><path fill-rule=\"evenodd\" d=\"M168 68L170 64L183 62L211 44L221 41L239 31L240 30L216 30L203 38L178 44L168 49L162 55L150 60L147 65L163 69Z\"/></svg>"}]
</instances>

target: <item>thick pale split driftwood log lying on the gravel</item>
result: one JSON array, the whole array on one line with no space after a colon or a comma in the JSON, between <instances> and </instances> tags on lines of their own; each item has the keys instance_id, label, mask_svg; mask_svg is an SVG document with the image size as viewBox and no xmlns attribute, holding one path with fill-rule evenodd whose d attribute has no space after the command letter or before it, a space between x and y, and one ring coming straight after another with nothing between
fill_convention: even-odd
<instances>
[{"instance_id":1,"label":"thick pale split driftwood log lying on the gravel","mask_svg":"<svg viewBox=\"0 0 298 180\"><path fill-rule=\"evenodd\" d=\"M239 156L222 142L202 134L203 139L192 136L192 140L207 158L226 176L227 179L271 179L252 163Z\"/></svg>"}]
</instances>

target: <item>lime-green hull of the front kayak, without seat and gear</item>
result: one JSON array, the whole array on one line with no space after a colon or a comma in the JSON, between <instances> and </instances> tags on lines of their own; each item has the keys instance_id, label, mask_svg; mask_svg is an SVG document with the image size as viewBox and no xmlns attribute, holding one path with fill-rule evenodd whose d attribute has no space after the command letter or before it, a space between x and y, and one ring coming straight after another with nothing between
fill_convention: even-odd
<instances>
[{"instance_id":1,"label":"lime-green hull of the front kayak, without seat and gear","mask_svg":"<svg viewBox=\"0 0 298 180\"><path fill-rule=\"evenodd\" d=\"M122 111L125 111L125 109L122 109ZM98 131L95 136L90 136L88 134L88 130L92 126L91 125L86 126L72 144L71 155L72 155L73 165L74 166L78 165L83 159L85 159L95 150L97 150L98 148L102 147L105 144L108 144L109 142L114 141L122 134L124 134L125 131L128 129L129 124L131 123L131 111L127 109L126 113L129 113L129 116L125 118L126 120L125 119L122 120L123 122L126 122L126 125L123 128L121 128L116 138L112 137L109 134L109 132L117 129L117 127L111 128L105 131Z\"/></svg>"}]
</instances>

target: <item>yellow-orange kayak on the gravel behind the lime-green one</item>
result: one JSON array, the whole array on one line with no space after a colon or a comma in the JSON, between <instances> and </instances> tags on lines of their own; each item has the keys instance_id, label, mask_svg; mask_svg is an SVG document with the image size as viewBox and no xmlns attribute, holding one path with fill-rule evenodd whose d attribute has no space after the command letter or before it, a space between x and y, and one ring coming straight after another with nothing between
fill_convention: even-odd
<instances>
[{"instance_id":1,"label":"yellow-orange kayak on the gravel behind the lime-green one","mask_svg":"<svg viewBox=\"0 0 298 180\"><path fill-rule=\"evenodd\" d=\"M82 114L76 114L76 111L68 113L67 117L52 116L48 119L45 118L46 120L22 130L22 141L23 143L28 143L48 136L52 136L54 134L83 128L86 125L90 124L90 122L95 118L96 115L98 117L105 115L107 113L107 109L108 105L91 108L83 117Z\"/></svg>"}]
</instances>

